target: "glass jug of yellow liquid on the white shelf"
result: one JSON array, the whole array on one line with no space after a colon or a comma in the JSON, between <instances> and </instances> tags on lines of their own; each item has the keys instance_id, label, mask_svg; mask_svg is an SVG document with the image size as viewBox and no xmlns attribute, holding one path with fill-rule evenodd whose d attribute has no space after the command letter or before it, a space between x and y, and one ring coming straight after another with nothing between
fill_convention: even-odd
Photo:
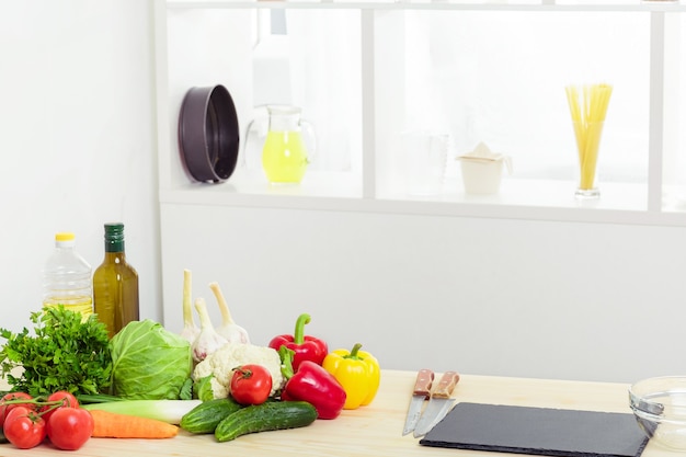
<instances>
[{"instance_id":1,"label":"glass jug of yellow liquid on the white shelf","mask_svg":"<svg viewBox=\"0 0 686 457\"><path fill-rule=\"evenodd\" d=\"M313 139L311 125L300 119L301 110L290 105L268 105L268 130L262 148L262 168L270 183L297 184L302 180Z\"/></svg>"}]
</instances>

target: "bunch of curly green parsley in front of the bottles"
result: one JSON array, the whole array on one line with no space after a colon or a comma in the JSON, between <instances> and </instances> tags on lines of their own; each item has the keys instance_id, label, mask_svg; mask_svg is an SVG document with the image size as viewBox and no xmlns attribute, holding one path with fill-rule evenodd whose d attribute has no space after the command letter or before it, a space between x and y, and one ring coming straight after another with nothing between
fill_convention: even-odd
<instances>
[{"instance_id":1,"label":"bunch of curly green parsley in front of the bottles","mask_svg":"<svg viewBox=\"0 0 686 457\"><path fill-rule=\"evenodd\" d=\"M14 391L33 397L57 390L100 393L110 386L112 356L105 325L91 315L46 307L32 312L35 335L0 329L7 344L0 350L0 375ZM15 369L23 367L23 370ZM19 375L21 373L21 375Z\"/></svg>"}]
</instances>

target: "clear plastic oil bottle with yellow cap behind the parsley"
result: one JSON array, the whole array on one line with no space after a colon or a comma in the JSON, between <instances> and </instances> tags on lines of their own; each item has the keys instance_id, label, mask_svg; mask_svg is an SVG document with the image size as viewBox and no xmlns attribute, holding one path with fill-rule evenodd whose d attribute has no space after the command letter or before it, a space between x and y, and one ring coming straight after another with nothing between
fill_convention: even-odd
<instances>
[{"instance_id":1,"label":"clear plastic oil bottle with yellow cap behind the parsley","mask_svg":"<svg viewBox=\"0 0 686 457\"><path fill-rule=\"evenodd\" d=\"M93 312L91 265L76 251L71 232L55 235L55 252L43 270L43 306L64 305L88 317Z\"/></svg>"}]
</instances>

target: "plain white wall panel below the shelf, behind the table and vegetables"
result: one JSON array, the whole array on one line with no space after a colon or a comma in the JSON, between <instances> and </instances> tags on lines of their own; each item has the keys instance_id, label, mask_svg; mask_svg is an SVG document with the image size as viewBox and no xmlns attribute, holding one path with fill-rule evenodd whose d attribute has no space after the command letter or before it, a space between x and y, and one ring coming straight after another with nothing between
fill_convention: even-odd
<instances>
[{"instance_id":1,"label":"plain white wall panel below the shelf, behind the table and vegetables","mask_svg":"<svg viewBox=\"0 0 686 457\"><path fill-rule=\"evenodd\" d=\"M162 205L165 322L182 270L253 342L355 342L388 368L626 381L686 373L684 228Z\"/></svg>"}]
</instances>

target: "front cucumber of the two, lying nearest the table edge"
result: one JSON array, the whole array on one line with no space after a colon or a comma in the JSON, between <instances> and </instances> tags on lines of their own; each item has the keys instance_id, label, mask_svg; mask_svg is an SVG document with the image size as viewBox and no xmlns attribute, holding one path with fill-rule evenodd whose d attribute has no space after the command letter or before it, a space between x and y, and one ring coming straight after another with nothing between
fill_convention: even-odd
<instances>
[{"instance_id":1,"label":"front cucumber of the two, lying nearest the table edge","mask_svg":"<svg viewBox=\"0 0 686 457\"><path fill-rule=\"evenodd\" d=\"M248 433L306 426L316 419L317 410L306 401L267 401L228 415L215 429L215 437L228 442Z\"/></svg>"}]
</instances>

